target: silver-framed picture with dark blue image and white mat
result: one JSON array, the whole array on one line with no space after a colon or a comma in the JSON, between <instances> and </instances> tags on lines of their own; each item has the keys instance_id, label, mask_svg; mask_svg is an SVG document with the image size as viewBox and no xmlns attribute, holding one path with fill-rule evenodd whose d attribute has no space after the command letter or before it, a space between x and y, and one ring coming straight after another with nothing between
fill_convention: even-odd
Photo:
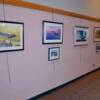
<instances>
[{"instance_id":1,"label":"silver-framed picture with dark blue image and white mat","mask_svg":"<svg viewBox=\"0 0 100 100\"><path fill-rule=\"evenodd\" d=\"M74 45L88 45L89 28L76 26L74 28Z\"/></svg>"}]
</instances>

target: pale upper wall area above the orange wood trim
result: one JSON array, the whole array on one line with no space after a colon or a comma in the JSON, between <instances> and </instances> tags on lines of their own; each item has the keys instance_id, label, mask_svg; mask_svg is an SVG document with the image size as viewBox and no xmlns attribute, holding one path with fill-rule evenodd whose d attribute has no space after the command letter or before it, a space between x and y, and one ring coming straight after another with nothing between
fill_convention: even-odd
<instances>
[{"instance_id":1,"label":"pale upper wall area above the orange wood trim","mask_svg":"<svg viewBox=\"0 0 100 100\"><path fill-rule=\"evenodd\" d=\"M23 0L100 18L100 0Z\"/></svg>"}]
</instances>

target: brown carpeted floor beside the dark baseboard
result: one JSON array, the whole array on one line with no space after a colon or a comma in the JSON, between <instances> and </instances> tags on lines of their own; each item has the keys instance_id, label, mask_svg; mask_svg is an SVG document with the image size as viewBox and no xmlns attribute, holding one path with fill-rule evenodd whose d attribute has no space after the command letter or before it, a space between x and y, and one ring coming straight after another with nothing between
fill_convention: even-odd
<instances>
[{"instance_id":1,"label":"brown carpeted floor beside the dark baseboard","mask_svg":"<svg viewBox=\"0 0 100 100\"><path fill-rule=\"evenodd\" d=\"M100 100L100 70L32 100Z\"/></svg>"}]
</instances>

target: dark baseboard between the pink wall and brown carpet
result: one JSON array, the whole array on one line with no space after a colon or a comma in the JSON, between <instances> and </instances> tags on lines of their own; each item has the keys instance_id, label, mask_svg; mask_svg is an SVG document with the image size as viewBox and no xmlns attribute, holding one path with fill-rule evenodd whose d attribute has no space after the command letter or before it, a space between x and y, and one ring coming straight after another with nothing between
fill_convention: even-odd
<instances>
[{"instance_id":1,"label":"dark baseboard between the pink wall and brown carpet","mask_svg":"<svg viewBox=\"0 0 100 100\"><path fill-rule=\"evenodd\" d=\"M76 80L79 80L79 79L81 79L81 78L83 78L83 77L85 77L85 76L87 76L87 75L89 75L89 74L91 74L91 73L93 73L93 72L96 72L96 71L98 71L98 70L100 70L100 68L97 68L97 69L95 69L95 70L93 70L93 71L90 71L90 72L88 72L88 73L86 73L86 74L84 74L84 75L82 75L82 76L79 76L79 77L75 78L74 80L71 80L71 81L69 81L69 82L66 82L66 83L64 83L64 84L62 84L62 85L60 85L60 86L58 86L58 87L55 87L55 88L53 88L53 89L51 89L51 90L48 90L48 91L46 91L46 92L44 92L44 93L41 93L41 94L39 94L39 95L37 95L37 96L34 96L34 97L32 97L32 98L30 98L30 99L28 99L28 100L35 100L35 99L38 99L39 97L45 96L45 95L49 94L49 93L52 92L52 91L58 90L58 89L60 89L60 88L63 88L64 86L66 86L66 85L68 85L68 84L70 84L70 83L72 83L72 82L74 82L74 81L76 81Z\"/></svg>"}]
</instances>

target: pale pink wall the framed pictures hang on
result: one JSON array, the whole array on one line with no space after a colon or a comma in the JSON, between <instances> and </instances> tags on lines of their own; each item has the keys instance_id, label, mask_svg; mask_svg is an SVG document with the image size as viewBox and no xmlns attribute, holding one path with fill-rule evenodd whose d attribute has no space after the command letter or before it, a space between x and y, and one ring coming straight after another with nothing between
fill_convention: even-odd
<instances>
[{"instance_id":1,"label":"pale pink wall the framed pictures hang on","mask_svg":"<svg viewBox=\"0 0 100 100\"><path fill-rule=\"evenodd\" d=\"M93 27L99 23L57 14L52 18L51 13L14 6L5 6L5 17L24 22L25 50L0 53L0 99L26 100L100 67L93 43ZM4 20L2 5L0 20ZM63 44L42 45L43 20L64 23ZM76 25L89 27L88 46L73 45ZM48 48L55 46L60 46L60 60L48 61Z\"/></svg>"}]
</instances>

